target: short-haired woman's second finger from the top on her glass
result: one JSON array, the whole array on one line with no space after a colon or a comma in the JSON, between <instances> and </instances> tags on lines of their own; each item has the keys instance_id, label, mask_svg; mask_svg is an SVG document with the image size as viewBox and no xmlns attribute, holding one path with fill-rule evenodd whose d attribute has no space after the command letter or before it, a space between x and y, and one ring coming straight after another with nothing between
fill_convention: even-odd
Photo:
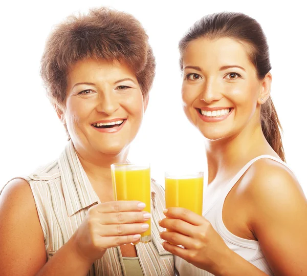
<instances>
[{"instance_id":1,"label":"short-haired woman's second finger from the top on her glass","mask_svg":"<svg viewBox=\"0 0 307 276\"><path fill-rule=\"evenodd\" d=\"M150 213L145 211L139 212L118 212L118 213L106 213L100 218L101 224L125 224L125 223L137 223L145 222L151 218Z\"/></svg>"}]
</instances>

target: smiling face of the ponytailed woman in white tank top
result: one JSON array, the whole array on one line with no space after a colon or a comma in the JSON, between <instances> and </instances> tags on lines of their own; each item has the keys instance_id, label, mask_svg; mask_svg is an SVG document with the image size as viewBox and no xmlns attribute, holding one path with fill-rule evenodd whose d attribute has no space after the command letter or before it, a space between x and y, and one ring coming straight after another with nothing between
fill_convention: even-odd
<instances>
[{"instance_id":1,"label":"smiling face of the ponytailed woman in white tank top","mask_svg":"<svg viewBox=\"0 0 307 276\"><path fill-rule=\"evenodd\" d=\"M234 137L259 122L262 81L241 43L193 40L184 52L183 70L184 111L204 137Z\"/></svg>"}]
</instances>

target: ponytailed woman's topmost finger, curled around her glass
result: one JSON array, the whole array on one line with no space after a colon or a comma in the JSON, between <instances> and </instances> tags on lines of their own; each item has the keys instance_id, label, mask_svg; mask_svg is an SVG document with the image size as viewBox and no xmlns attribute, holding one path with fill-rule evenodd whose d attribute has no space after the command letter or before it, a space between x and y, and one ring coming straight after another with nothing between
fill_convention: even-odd
<instances>
[{"instance_id":1,"label":"ponytailed woman's topmost finger, curled around her glass","mask_svg":"<svg viewBox=\"0 0 307 276\"><path fill-rule=\"evenodd\" d=\"M203 216L181 207L169 207L163 213L168 218L181 219L193 225L201 225L204 223L204 220L207 221Z\"/></svg>"}]
</instances>

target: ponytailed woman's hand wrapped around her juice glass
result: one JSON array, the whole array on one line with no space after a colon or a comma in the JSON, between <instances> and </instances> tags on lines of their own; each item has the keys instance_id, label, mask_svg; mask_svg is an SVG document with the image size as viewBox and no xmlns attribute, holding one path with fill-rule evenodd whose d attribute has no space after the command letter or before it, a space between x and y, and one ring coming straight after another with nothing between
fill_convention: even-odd
<instances>
[{"instance_id":1,"label":"ponytailed woman's hand wrapped around her juice glass","mask_svg":"<svg viewBox=\"0 0 307 276\"><path fill-rule=\"evenodd\" d=\"M194 266L219 274L221 262L231 250L211 223L185 208L170 207L165 211L166 218L160 221L160 226L169 230L160 234L166 241L163 243L165 250Z\"/></svg>"}]
</instances>

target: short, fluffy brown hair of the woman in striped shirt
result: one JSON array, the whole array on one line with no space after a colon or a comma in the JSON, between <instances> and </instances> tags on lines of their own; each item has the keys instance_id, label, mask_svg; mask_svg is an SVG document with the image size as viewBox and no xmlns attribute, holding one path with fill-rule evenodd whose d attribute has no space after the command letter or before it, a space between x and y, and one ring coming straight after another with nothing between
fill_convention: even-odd
<instances>
[{"instance_id":1,"label":"short, fluffy brown hair of the woman in striped shirt","mask_svg":"<svg viewBox=\"0 0 307 276\"><path fill-rule=\"evenodd\" d=\"M136 74L147 97L155 76L155 57L141 23L132 15L109 8L71 15L47 39L40 75L47 96L60 108L65 105L67 75L85 58L125 62Z\"/></svg>"}]
</instances>

